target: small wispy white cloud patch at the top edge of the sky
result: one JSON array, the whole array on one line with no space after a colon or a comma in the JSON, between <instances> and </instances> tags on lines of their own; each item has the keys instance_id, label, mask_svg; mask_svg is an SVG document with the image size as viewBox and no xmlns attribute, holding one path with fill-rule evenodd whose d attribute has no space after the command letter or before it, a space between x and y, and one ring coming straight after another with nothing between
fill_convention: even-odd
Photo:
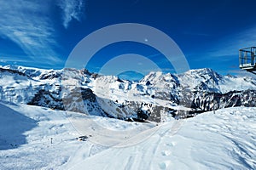
<instances>
[{"instance_id":1,"label":"small wispy white cloud patch at the top edge of the sky","mask_svg":"<svg viewBox=\"0 0 256 170\"><path fill-rule=\"evenodd\" d=\"M72 20L81 21L84 14L84 0L61 0L63 26L67 29Z\"/></svg>"}]
</instances>

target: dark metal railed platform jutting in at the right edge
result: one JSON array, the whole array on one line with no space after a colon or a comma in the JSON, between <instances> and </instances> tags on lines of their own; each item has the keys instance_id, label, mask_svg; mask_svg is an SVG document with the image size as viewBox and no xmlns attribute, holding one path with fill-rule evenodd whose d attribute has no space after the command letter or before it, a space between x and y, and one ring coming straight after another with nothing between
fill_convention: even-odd
<instances>
[{"instance_id":1,"label":"dark metal railed platform jutting in at the right edge","mask_svg":"<svg viewBox=\"0 0 256 170\"><path fill-rule=\"evenodd\" d=\"M239 49L239 67L256 74L256 47Z\"/></svg>"}]
</instances>

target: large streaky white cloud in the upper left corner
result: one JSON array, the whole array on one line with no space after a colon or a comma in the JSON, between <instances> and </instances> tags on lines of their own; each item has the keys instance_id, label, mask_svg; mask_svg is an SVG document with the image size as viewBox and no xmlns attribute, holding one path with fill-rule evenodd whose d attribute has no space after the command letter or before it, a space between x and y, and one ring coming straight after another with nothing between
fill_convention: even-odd
<instances>
[{"instance_id":1,"label":"large streaky white cloud in the upper left corner","mask_svg":"<svg viewBox=\"0 0 256 170\"><path fill-rule=\"evenodd\" d=\"M0 0L0 36L15 42L37 61L52 63L60 59L56 47L55 29L49 19L50 0Z\"/></svg>"}]
</instances>

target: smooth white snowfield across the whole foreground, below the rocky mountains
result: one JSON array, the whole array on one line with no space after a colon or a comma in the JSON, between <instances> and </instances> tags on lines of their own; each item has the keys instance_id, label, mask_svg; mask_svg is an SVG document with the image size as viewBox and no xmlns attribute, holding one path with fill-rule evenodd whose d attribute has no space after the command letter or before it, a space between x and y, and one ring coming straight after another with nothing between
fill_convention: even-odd
<instances>
[{"instance_id":1,"label":"smooth white snowfield across the whole foreground, below the rocky mountains","mask_svg":"<svg viewBox=\"0 0 256 170\"><path fill-rule=\"evenodd\" d=\"M1 102L0 169L256 169L255 112L152 124Z\"/></svg>"}]
</instances>

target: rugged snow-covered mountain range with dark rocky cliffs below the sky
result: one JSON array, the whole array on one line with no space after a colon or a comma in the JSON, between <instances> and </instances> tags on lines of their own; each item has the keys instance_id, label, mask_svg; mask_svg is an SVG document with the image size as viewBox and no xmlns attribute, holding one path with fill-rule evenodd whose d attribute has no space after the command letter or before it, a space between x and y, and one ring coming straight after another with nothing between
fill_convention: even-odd
<instances>
[{"instance_id":1,"label":"rugged snow-covered mountain range with dark rocky cliffs below the sky","mask_svg":"<svg viewBox=\"0 0 256 170\"><path fill-rule=\"evenodd\" d=\"M256 79L211 69L181 75L150 72L139 82L87 70L0 67L0 99L119 119L165 122L232 106L256 106Z\"/></svg>"}]
</instances>

